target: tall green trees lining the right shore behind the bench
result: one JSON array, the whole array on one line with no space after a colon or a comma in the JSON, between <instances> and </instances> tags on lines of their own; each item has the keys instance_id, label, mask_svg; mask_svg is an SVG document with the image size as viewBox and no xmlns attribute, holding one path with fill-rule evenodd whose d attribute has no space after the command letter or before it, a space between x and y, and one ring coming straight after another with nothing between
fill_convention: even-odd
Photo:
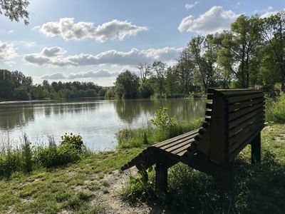
<instances>
[{"instance_id":1,"label":"tall green trees lining the right shore behind the bench","mask_svg":"<svg viewBox=\"0 0 285 214\"><path fill-rule=\"evenodd\" d=\"M230 30L190 39L177 62L140 63L120 73L107 98L189 96L209 87L285 91L285 11L262 18L241 15Z\"/></svg>"}]
</instances>

